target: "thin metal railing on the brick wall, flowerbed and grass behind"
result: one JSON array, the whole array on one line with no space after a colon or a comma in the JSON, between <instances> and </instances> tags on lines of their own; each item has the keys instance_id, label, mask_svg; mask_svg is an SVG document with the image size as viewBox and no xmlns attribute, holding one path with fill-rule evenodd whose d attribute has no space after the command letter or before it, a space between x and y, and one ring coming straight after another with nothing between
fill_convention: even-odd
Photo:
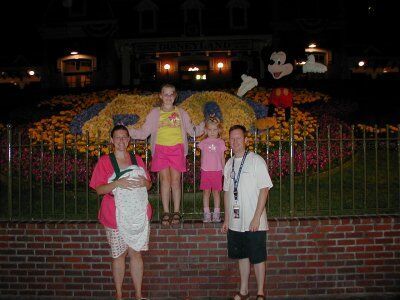
<instances>
[{"instance_id":1,"label":"thin metal railing on the brick wall, flowerbed and grass behind","mask_svg":"<svg viewBox=\"0 0 400 300\"><path fill-rule=\"evenodd\" d=\"M312 135L284 128L249 135L249 148L267 162L274 187L269 216L393 214L400 212L400 125L369 132L328 125ZM49 142L50 141L50 142ZM191 142L182 174L185 219L202 215L199 150ZM147 142L132 150L147 165ZM109 145L88 135L33 140L11 126L1 136L0 218L3 220L94 220L101 197L89 188L91 172ZM230 153L227 151L227 157ZM159 179L152 173L150 201L159 219ZM212 200L211 200L212 204Z\"/></svg>"}]
</instances>

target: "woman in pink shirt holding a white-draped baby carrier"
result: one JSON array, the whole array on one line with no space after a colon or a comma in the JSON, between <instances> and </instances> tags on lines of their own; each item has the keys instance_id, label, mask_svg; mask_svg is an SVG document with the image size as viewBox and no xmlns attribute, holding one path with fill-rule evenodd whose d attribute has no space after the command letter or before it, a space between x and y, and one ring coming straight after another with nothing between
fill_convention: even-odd
<instances>
[{"instance_id":1,"label":"woman in pink shirt holding a white-draped baby carrier","mask_svg":"<svg viewBox=\"0 0 400 300\"><path fill-rule=\"evenodd\" d=\"M141 251L148 250L149 242L147 190L151 187L150 176L141 157L127 151L130 136L125 126L115 126L110 141L114 151L100 157L90 187L104 195L99 220L105 227L111 247L116 299L122 299L127 255L130 257L135 297L143 299Z\"/></svg>"}]
</instances>

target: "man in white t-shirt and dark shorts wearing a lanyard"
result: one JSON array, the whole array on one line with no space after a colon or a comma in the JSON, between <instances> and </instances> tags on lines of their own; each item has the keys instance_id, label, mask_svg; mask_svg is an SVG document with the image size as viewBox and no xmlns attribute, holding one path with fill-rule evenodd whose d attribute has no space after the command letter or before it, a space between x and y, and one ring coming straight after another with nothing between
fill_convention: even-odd
<instances>
[{"instance_id":1,"label":"man in white t-shirt and dark shorts wearing a lanyard","mask_svg":"<svg viewBox=\"0 0 400 300\"><path fill-rule=\"evenodd\" d=\"M256 300L265 299L264 281L267 259L267 214L265 205L272 187L265 160L246 150L246 128L229 129L234 156L224 168L225 220L222 232L228 233L228 256L239 260L240 290L233 299L249 299L250 264L257 280Z\"/></svg>"}]
</instances>

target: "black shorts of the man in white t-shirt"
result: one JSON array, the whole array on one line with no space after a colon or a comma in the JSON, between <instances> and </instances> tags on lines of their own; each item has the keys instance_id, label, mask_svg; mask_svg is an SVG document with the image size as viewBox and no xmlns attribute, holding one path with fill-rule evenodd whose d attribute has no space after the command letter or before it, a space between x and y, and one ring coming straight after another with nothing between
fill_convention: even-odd
<instances>
[{"instance_id":1,"label":"black shorts of the man in white t-shirt","mask_svg":"<svg viewBox=\"0 0 400 300\"><path fill-rule=\"evenodd\" d=\"M233 259L248 258L251 264L267 260L267 232L228 230L228 257Z\"/></svg>"}]
</instances>

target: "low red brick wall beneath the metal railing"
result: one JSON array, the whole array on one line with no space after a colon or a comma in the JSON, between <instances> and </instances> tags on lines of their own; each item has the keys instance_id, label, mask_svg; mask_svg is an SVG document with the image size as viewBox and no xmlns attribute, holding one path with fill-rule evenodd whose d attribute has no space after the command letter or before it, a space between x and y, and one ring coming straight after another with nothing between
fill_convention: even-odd
<instances>
[{"instance_id":1,"label":"low red brick wall beneath the metal railing","mask_svg":"<svg viewBox=\"0 0 400 300\"><path fill-rule=\"evenodd\" d=\"M270 220L269 296L400 295L400 217ZM152 225L143 288L151 299L226 299L239 286L220 225ZM97 223L0 223L0 297L112 298ZM251 275L251 293L255 293ZM127 272L126 297L133 297Z\"/></svg>"}]
</instances>

